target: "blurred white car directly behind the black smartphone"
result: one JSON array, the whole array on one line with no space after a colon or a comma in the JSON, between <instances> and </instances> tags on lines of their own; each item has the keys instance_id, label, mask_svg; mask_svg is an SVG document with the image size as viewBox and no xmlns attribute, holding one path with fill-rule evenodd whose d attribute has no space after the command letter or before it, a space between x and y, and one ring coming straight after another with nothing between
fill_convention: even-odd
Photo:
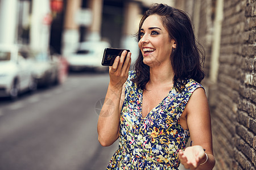
<instances>
[{"instance_id":1,"label":"blurred white car directly behind the black smartphone","mask_svg":"<svg viewBox=\"0 0 256 170\"><path fill-rule=\"evenodd\" d=\"M105 48L110 44L106 41L86 41L81 42L75 53L67 56L69 70L80 71L84 69L94 69L96 71L106 71L108 67L101 65Z\"/></svg>"}]
</instances>

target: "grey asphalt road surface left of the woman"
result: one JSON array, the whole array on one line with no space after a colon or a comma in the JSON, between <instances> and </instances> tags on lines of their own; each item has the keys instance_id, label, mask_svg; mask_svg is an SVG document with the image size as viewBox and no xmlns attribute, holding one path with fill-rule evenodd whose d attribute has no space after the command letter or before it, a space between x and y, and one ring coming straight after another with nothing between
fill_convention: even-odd
<instances>
[{"instance_id":1,"label":"grey asphalt road surface left of the woman","mask_svg":"<svg viewBox=\"0 0 256 170\"><path fill-rule=\"evenodd\" d=\"M118 147L97 140L96 103L108 82L108 74L71 74L15 102L0 99L0 169L105 169Z\"/></svg>"}]
</instances>

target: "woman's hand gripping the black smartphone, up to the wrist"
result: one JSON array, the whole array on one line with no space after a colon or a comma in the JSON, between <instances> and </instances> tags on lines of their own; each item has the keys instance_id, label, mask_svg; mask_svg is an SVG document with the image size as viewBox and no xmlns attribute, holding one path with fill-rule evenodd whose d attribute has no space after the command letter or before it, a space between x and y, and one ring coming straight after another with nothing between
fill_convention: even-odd
<instances>
[{"instance_id":1,"label":"woman's hand gripping the black smartphone, up to the wrist","mask_svg":"<svg viewBox=\"0 0 256 170\"><path fill-rule=\"evenodd\" d=\"M123 50L121 57L117 56L113 66L109 67L110 86L122 88L123 84L126 82L131 65L131 53L129 52L127 56L126 54L127 51Z\"/></svg>"}]
</instances>

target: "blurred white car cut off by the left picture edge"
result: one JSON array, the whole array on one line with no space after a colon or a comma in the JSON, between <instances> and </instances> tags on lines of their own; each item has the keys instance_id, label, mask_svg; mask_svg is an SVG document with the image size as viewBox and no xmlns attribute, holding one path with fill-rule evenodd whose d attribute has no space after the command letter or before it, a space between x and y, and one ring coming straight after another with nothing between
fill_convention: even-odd
<instances>
[{"instance_id":1,"label":"blurred white car cut off by the left picture edge","mask_svg":"<svg viewBox=\"0 0 256 170\"><path fill-rule=\"evenodd\" d=\"M16 45L0 45L0 97L16 99L21 92L36 90L32 61L19 54Z\"/></svg>"}]
</instances>

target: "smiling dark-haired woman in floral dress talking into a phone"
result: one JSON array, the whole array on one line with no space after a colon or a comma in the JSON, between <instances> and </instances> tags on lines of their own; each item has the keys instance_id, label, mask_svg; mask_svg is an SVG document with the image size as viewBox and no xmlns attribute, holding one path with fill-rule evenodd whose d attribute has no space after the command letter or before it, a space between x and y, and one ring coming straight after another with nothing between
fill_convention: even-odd
<instances>
[{"instance_id":1,"label":"smiling dark-haired woman in floral dress talking into a phone","mask_svg":"<svg viewBox=\"0 0 256 170\"><path fill-rule=\"evenodd\" d=\"M134 71L126 51L109 67L98 141L110 146L119 138L119 148L106 169L212 169L210 112L191 21L156 4L144 14L138 40Z\"/></svg>"}]
</instances>

